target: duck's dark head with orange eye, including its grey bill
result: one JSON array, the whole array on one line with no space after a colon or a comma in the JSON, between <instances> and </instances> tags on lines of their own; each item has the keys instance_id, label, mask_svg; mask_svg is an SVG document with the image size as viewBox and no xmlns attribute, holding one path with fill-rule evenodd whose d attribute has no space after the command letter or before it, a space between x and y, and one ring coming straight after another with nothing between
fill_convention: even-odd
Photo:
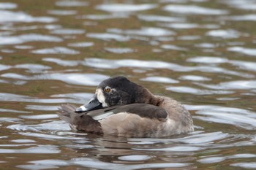
<instances>
[{"instance_id":1,"label":"duck's dark head with orange eye, including its grey bill","mask_svg":"<svg viewBox=\"0 0 256 170\"><path fill-rule=\"evenodd\" d=\"M150 92L129 81L126 77L110 77L98 85L88 104L78 107L75 112L88 112L116 105L145 103L143 101L144 93Z\"/></svg>"}]
</instances>

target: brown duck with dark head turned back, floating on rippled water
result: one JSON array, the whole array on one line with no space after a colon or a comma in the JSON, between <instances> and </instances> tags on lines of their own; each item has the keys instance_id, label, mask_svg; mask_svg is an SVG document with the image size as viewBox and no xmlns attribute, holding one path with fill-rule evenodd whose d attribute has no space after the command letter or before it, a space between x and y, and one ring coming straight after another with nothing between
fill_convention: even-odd
<instances>
[{"instance_id":1,"label":"brown duck with dark head turned back, floating on rippled water","mask_svg":"<svg viewBox=\"0 0 256 170\"><path fill-rule=\"evenodd\" d=\"M58 115L72 131L86 134L152 138L194 131L192 116L180 102L123 76L100 82L87 104L61 104Z\"/></svg>"}]
</instances>

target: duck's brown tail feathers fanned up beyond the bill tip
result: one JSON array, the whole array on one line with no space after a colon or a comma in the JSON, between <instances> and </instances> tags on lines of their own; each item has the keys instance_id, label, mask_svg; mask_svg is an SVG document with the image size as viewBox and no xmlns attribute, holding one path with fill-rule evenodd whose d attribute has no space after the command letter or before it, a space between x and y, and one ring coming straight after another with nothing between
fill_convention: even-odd
<instances>
[{"instance_id":1,"label":"duck's brown tail feathers fanned up beyond the bill tip","mask_svg":"<svg viewBox=\"0 0 256 170\"><path fill-rule=\"evenodd\" d=\"M59 107L58 115L61 118L61 120L64 120L65 122L72 124L71 115L75 113L75 106L71 104L61 104L61 107Z\"/></svg>"}]
</instances>

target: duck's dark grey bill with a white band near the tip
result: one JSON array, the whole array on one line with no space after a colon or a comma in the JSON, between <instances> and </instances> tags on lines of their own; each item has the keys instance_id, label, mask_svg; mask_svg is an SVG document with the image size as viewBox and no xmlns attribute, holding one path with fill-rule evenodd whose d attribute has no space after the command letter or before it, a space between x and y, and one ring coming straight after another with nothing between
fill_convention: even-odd
<instances>
[{"instance_id":1,"label":"duck's dark grey bill with a white band near the tip","mask_svg":"<svg viewBox=\"0 0 256 170\"><path fill-rule=\"evenodd\" d=\"M99 102L96 95L94 95L93 98L88 102L88 104L85 104L83 106L78 107L75 109L75 112L88 112L94 109L102 109L102 103Z\"/></svg>"}]
</instances>

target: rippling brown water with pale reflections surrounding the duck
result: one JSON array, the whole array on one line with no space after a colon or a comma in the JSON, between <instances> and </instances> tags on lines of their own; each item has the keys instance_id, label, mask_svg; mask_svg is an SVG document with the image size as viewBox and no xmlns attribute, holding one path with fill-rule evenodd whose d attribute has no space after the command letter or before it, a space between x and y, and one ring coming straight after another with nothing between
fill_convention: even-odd
<instances>
[{"instance_id":1,"label":"rippling brown water with pale reflections surrounding the duck","mask_svg":"<svg viewBox=\"0 0 256 170\"><path fill-rule=\"evenodd\" d=\"M256 169L256 1L0 2L2 169ZM181 101L195 132L75 134L60 104L124 75Z\"/></svg>"}]
</instances>

